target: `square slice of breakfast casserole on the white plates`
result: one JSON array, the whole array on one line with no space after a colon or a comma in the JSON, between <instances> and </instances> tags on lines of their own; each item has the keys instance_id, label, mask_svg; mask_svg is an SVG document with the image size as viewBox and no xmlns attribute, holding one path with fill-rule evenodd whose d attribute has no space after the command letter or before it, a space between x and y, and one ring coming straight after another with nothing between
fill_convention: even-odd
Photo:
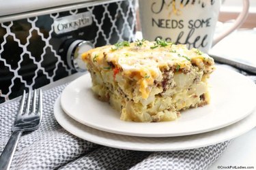
<instances>
[{"instance_id":1,"label":"square slice of breakfast casserole on the white plates","mask_svg":"<svg viewBox=\"0 0 256 170\"><path fill-rule=\"evenodd\" d=\"M119 42L85 52L92 90L121 112L121 120L176 120L180 110L209 103L214 60L167 41Z\"/></svg>"}]
</instances>

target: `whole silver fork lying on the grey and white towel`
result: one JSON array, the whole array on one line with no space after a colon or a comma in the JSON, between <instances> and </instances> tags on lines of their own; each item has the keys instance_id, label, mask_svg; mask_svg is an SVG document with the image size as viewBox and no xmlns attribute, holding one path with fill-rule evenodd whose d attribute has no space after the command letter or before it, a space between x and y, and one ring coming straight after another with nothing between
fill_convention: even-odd
<instances>
[{"instance_id":1,"label":"whole silver fork lying on the grey and white towel","mask_svg":"<svg viewBox=\"0 0 256 170\"><path fill-rule=\"evenodd\" d=\"M20 107L14 124L12 126L12 135L6 144L1 156L0 156L0 169L9 169L12 163L14 152L18 145L18 139L25 131L33 131L38 129L40 121L42 119L42 90L39 90L38 104L36 103L36 90L33 92L33 101L30 108L31 91L27 95L27 101L25 103L26 92L23 91L23 97L20 101ZM25 112L23 108L25 107Z\"/></svg>"}]
</instances>

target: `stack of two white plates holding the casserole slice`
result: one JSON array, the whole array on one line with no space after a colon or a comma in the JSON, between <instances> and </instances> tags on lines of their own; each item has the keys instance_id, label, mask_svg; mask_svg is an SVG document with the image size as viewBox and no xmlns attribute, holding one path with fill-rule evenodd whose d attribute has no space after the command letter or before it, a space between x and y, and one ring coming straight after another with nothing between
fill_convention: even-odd
<instances>
[{"instance_id":1,"label":"stack of two white plates holding the casserole slice","mask_svg":"<svg viewBox=\"0 0 256 170\"><path fill-rule=\"evenodd\" d=\"M172 122L124 122L91 91L89 73L63 90L55 118L70 133L103 146L170 151L210 146L256 126L256 85L240 73L217 67L210 78L211 103L188 109Z\"/></svg>"}]
</instances>

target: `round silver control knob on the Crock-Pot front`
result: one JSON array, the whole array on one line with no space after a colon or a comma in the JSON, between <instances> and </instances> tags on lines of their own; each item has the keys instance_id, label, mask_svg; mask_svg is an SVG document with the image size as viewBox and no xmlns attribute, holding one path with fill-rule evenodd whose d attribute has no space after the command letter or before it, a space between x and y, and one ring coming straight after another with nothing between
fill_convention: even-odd
<instances>
[{"instance_id":1,"label":"round silver control knob on the Crock-Pot front","mask_svg":"<svg viewBox=\"0 0 256 170\"><path fill-rule=\"evenodd\" d=\"M82 72L86 71L85 63L82 61L83 52L87 52L91 48L94 48L94 45L90 41L85 40L74 40L67 51L67 62L68 66L76 71Z\"/></svg>"}]
</instances>

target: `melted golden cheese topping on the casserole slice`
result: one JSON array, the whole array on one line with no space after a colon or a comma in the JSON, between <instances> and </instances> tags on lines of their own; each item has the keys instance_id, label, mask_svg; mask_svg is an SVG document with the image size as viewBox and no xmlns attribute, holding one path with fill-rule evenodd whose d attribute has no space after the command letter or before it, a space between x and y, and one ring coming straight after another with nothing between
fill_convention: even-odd
<instances>
[{"instance_id":1,"label":"melted golden cheese topping on the casserole slice","mask_svg":"<svg viewBox=\"0 0 256 170\"><path fill-rule=\"evenodd\" d=\"M156 41L143 41L117 47L103 46L85 52L83 60L94 65L98 70L118 68L124 77L137 80L143 99L150 95L150 86L154 81L162 81L163 69L190 70L192 65L205 69L205 63L214 64L208 54L197 49L188 50L186 45L156 44Z\"/></svg>"}]
</instances>

